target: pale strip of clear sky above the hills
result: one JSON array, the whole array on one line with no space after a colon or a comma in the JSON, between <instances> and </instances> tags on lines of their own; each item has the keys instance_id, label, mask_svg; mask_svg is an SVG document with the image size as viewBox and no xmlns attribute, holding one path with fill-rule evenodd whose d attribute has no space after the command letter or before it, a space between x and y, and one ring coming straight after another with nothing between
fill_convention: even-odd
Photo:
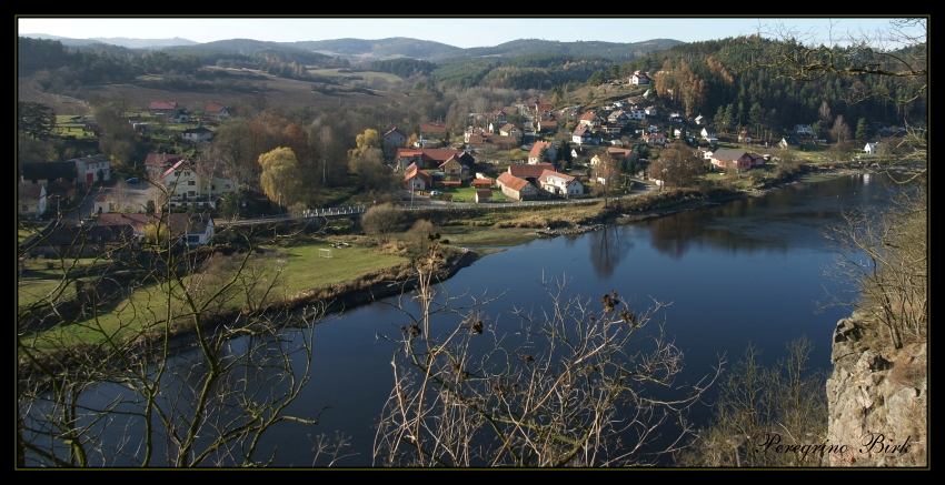
<instances>
[{"instance_id":1,"label":"pale strip of clear sky above the hills","mask_svg":"<svg viewBox=\"0 0 945 485\"><path fill-rule=\"evenodd\" d=\"M777 26L797 39L818 42L847 32L875 32L889 18L76 18L20 16L20 36L46 33L72 39L180 37L196 42L253 39L295 42L329 39L409 37L459 48L490 47L516 39L557 41L640 42L675 39L683 42L723 39ZM782 29L784 30L784 29Z\"/></svg>"}]
</instances>

